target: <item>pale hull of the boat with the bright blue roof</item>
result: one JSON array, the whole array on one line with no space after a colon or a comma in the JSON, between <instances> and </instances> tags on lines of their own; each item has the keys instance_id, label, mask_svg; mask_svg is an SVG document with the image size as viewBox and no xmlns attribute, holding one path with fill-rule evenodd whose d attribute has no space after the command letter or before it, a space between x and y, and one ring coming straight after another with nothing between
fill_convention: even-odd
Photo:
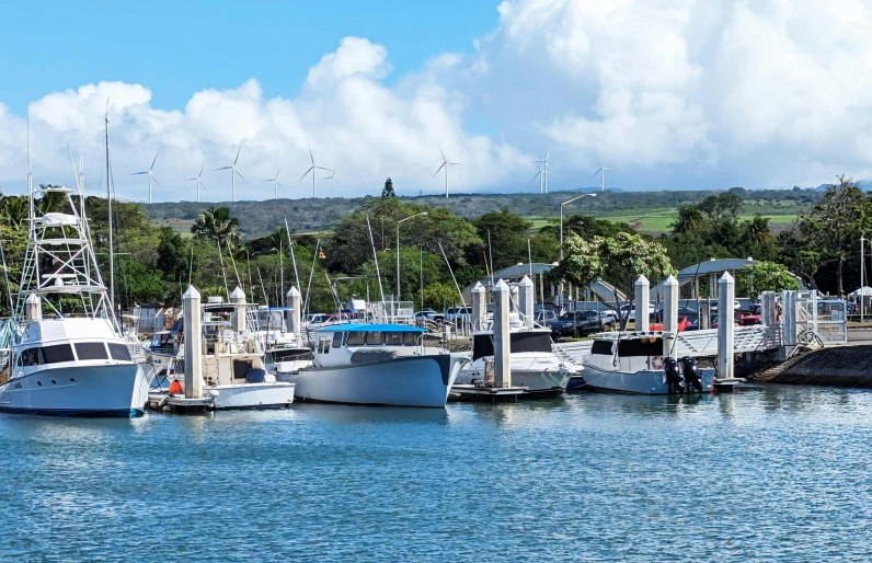
<instances>
[{"instance_id":1,"label":"pale hull of the boat with the bright blue roof","mask_svg":"<svg viewBox=\"0 0 872 563\"><path fill-rule=\"evenodd\" d=\"M448 354L312 367L280 374L303 402L444 409L464 358Z\"/></svg>"}]
</instances>

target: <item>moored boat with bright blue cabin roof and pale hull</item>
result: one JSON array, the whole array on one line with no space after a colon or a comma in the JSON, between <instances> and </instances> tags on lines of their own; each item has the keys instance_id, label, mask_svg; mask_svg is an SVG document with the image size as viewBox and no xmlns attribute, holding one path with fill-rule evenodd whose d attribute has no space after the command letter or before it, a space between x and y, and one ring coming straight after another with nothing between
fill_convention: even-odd
<instances>
[{"instance_id":1,"label":"moored boat with bright blue cabin roof and pale hull","mask_svg":"<svg viewBox=\"0 0 872 563\"><path fill-rule=\"evenodd\" d=\"M315 333L311 367L279 375L303 402L444 409L468 357L424 346L405 324L336 324Z\"/></svg>"}]
</instances>

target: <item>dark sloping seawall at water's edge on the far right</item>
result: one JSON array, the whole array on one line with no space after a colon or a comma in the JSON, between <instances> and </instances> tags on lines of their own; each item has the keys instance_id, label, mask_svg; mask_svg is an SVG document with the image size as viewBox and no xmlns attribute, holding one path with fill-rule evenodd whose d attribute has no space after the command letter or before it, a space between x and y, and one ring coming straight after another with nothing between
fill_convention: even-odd
<instances>
[{"instance_id":1,"label":"dark sloping seawall at water's edge on the far right","mask_svg":"<svg viewBox=\"0 0 872 563\"><path fill-rule=\"evenodd\" d=\"M748 376L760 383L872 388L872 344L807 352Z\"/></svg>"}]
</instances>

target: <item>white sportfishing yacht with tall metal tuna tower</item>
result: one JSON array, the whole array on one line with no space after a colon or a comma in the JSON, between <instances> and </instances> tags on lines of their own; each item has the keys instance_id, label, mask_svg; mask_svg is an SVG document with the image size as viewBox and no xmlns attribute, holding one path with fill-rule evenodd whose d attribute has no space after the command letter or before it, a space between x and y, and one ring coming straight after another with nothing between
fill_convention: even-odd
<instances>
[{"instance_id":1,"label":"white sportfishing yacht with tall metal tuna tower","mask_svg":"<svg viewBox=\"0 0 872 563\"><path fill-rule=\"evenodd\" d=\"M30 233L16 295L19 333L0 375L0 411L90 416L142 414L147 366L131 359L112 314L83 209L72 189L47 187L64 211L36 215L30 197ZM80 198L81 200L81 198Z\"/></svg>"}]
</instances>

